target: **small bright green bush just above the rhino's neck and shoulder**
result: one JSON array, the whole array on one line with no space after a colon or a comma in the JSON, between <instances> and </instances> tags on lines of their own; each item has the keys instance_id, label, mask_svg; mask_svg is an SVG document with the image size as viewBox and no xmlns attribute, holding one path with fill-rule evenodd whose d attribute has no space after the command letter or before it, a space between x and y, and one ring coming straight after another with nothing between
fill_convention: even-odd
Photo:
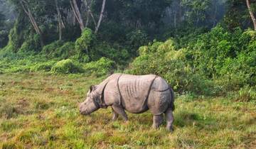
<instances>
[{"instance_id":1,"label":"small bright green bush just above the rhino's neck and shoulder","mask_svg":"<svg viewBox=\"0 0 256 149\"><path fill-rule=\"evenodd\" d=\"M84 69L85 72L100 77L102 75L107 75L114 69L114 62L106 57L102 57L100 60L85 64Z\"/></svg>"}]
</instances>

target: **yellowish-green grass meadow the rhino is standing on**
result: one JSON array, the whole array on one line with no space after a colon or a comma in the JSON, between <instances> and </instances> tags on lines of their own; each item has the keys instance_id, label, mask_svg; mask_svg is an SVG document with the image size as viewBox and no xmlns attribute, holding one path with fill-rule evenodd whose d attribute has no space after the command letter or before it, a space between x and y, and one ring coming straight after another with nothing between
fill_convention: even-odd
<instances>
[{"instance_id":1,"label":"yellowish-green grass meadow the rhino is standing on","mask_svg":"<svg viewBox=\"0 0 256 149\"><path fill-rule=\"evenodd\" d=\"M256 104L225 98L176 99L174 133L152 116L112 121L111 109L81 116L78 103L102 78L0 75L0 148L256 148Z\"/></svg>"}]
</instances>

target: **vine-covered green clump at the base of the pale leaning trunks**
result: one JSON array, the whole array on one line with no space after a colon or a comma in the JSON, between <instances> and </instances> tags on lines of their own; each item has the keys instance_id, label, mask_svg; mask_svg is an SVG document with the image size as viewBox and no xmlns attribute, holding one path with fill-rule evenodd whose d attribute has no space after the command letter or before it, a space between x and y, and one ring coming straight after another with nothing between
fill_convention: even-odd
<instances>
[{"instance_id":1,"label":"vine-covered green clump at the base of the pale leaning trunks","mask_svg":"<svg viewBox=\"0 0 256 149\"><path fill-rule=\"evenodd\" d=\"M92 46L92 41L95 40L95 35L90 28L85 28L82 35L75 41L75 50L78 53L88 53L89 48Z\"/></svg>"}]
</instances>

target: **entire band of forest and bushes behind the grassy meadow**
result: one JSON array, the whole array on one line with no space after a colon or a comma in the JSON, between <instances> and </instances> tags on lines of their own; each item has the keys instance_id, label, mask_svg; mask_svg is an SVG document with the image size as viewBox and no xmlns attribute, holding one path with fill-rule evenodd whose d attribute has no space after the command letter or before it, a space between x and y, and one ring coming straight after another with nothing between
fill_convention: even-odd
<instances>
[{"instance_id":1,"label":"entire band of forest and bushes behind the grassy meadow","mask_svg":"<svg viewBox=\"0 0 256 149\"><path fill-rule=\"evenodd\" d=\"M0 6L16 13L15 21L0 13L1 73L99 77L130 63L127 72L161 75L180 94L255 94L255 1L250 9L237 0L107 0L104 10L90 0Z\"/></svg>"}]
</instances>

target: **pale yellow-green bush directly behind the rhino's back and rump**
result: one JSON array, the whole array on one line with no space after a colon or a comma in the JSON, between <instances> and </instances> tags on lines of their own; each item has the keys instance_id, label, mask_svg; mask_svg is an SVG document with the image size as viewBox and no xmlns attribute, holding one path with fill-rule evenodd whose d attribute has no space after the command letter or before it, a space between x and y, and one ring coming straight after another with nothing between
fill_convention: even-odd
<instances>
[{"instance_id":1,"label":"pale yellow-green bush directly behind the rhino's back and rump","mask_svg":"<svg viewBox=\"0 0 256 149\"><path fill-rule=\"evenodd\" d=\"M211 94L212 82L187 62L188 50L175 50L173 40L155 42L139 48L128 72L136 75L155 74L164 77L177 92Z\"/></svg>"}]
</instances>

